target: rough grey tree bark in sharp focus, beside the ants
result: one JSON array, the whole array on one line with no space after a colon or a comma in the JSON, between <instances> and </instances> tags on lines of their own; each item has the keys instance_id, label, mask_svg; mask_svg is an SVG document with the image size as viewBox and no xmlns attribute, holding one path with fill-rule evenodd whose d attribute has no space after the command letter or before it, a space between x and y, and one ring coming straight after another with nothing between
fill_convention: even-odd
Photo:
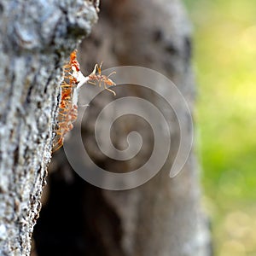
<instances>
[{"instance_id":1,"label":"rough grey tree bark in sharp focus, beside the ants","mask_svg":"<svg viewBox=\"0 0 256 256\"><path fill-rule=\"evenodd\" d=\"M61 67L96 19L90 1L0 3L0 255L30 255Z\"/></svg>"}]
</instances>

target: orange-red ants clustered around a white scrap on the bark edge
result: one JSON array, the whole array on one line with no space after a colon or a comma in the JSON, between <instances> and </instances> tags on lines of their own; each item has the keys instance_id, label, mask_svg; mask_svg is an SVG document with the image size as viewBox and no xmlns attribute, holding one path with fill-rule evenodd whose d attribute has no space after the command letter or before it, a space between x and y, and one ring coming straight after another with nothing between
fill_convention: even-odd
<instances>
[{"instance_id":1,"label":"orange-red ants clustered around a white scrap on the bark edge","mask_svg":"<svg viewBox=\"0 0 256 256\"><path fill-rule=\"evenodd\" d=\"M64 137L68 131L73 129L73 122L78 117L78 90L85 84L98 84L100 87L104 86L115 96L115 92L108 87L115 85L113 80L109 77L115 73L110 73L108 76L102 74L101 65L96 64L92 73L84 77L80 72L79 61L77 60L77 50L75 49L71 55L70 60L64 65L64 79L61 83L61 101L59 103L59 113L57 118L57 129L55 130L56 137L52 151L55 152L64 142Z\"/></svg>"}]
</instances>

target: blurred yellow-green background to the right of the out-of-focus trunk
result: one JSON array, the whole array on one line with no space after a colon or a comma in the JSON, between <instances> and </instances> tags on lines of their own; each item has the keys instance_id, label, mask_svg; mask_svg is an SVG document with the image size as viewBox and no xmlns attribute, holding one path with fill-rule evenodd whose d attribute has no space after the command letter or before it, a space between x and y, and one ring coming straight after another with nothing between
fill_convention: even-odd
<instances>
[{"instance_id":1,"label":"blurred yellow-green background to the right of the out-of-focus trunk","mask_svg":"<svg viewBox=\"0 0 256 256\"><path fill-rule=\"evenodd\" d=\"M195 119L215 255L256 255L256 1L183 0L194 23Z\"/></svg>"}]
</instances>

